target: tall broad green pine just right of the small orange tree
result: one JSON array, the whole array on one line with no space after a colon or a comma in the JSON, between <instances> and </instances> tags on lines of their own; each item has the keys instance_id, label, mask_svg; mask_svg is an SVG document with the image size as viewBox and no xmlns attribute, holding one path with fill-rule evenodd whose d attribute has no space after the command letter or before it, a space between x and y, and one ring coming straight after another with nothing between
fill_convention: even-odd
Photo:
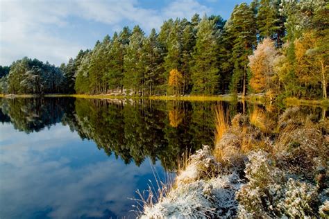
<instances>
[{"instance_id":1,"label":"tall broad green pine just right of the small orange tree","mask_svg":"<svg viewBox=\"0 0 329 219\"><path fill-rule=\"evenodd\" d=\"M192 80L196 94L214 94L218 85L217 35L214 21L206 16L199 24L193 54Z\"/></svg>"}]
</instances>

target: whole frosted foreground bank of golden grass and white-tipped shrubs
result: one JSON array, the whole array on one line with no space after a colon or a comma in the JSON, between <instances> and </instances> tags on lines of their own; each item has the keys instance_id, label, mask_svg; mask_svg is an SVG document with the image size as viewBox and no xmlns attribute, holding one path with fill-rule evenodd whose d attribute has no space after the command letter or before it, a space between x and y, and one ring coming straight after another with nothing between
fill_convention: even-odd
<instances>
[{"instance_id":1,"label":"whole frosted foreground bank of golden grass and white-tipped shrubs","mask_svg":"<svg viewBox=\"0 0 329 219\"><path fill-rule=\"evenodd\" d=\"M262 109L214 113L214 150L191 155L142 218L329 218L328 119L298 107L274 125Z\"/></svg>"}]
</instances>

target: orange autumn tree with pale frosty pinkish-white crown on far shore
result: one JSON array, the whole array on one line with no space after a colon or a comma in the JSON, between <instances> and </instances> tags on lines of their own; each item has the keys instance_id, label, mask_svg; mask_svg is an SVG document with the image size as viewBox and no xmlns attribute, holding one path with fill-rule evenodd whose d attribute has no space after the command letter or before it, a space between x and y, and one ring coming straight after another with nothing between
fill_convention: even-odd
<instances>
[{"instance_id":1,"label":"orange autumn tree with pale frosty pinkish-white crown on far shore","mask_svg":"<svg viewBox=\"0 0 329 219\"><path fill-rule=\"evenodd\" d=\"M274 42L269 38L265 38L258 44L253 55L248 56L248 66L252 73L249 85L256 93L274 89L274 60L277 56Z\"/></svg>"}]
</instances>

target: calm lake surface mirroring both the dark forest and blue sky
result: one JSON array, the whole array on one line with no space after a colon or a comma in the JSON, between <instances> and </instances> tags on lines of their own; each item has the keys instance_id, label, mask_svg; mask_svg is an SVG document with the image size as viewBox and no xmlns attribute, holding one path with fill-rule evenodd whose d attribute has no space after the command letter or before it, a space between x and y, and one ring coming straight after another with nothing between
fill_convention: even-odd
<instances>
[{"instance_id":1,"label":"calm lake surface mirroring both the dark forest and blue sky","mask_svg":"<svg viewBox=\"0 0 329 219\"><path fill-rule=\"evenodd\" d=\"M217 104L0 98L0 218L135 218L137 190L157 189L154 175L165 180L183 152L212 145ZM285 110L220 104L273 120Z\"/></svg>"}]
</instances>

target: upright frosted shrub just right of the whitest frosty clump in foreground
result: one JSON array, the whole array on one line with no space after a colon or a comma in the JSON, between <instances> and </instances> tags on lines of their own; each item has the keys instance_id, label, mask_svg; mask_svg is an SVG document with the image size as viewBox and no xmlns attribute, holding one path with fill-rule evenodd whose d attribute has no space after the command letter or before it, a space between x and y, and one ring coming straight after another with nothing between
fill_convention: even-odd
<instances>
[{"instance_id":1,"label":"upright frosted shrub just right of the whitest frosty clump in foreground","mask_svg":"<svg viewBox=\"0 0 329 219\"><path fill-rule=\"evenodd\" d=\"M271 164L266 152L251 152L246 164L248 184L237 192L240 218L277 216L273 207L280 200L283 173Z\"/></svg>"}]
</instances>

